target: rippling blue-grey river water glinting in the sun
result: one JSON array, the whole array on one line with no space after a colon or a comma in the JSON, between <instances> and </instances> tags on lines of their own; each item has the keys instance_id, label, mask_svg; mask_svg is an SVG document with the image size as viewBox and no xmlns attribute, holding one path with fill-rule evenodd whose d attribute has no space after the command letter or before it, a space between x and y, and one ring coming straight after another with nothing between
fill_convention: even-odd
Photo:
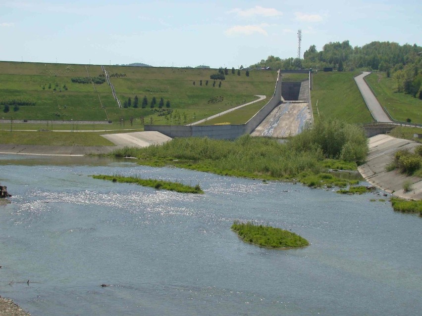
<instances>
[{"instance_id":1,"label":"rippling blue-grey river water glinting in the sun","mask_svg":"<svg viewBox=\"0 0 422 316\"><path fill-rule=\"evenodd\" d=\"M199 183L205 194L93 174ZM0 206L0 294L33 316L422 310L422 219L382 195L89 157L0 155L0 180L13 195ZM290 229L311 245L260 248L230 230L234 220Z\"/></svg>"}]
</instances>

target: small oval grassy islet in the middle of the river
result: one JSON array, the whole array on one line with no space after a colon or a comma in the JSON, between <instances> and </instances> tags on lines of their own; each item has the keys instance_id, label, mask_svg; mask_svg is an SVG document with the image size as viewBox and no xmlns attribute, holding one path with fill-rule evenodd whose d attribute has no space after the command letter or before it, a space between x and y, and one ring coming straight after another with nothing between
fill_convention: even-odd
<instances>
[{"instance_id":1,"label":"small oval grassy islet in the middle of the river","mask_svg":"<svg viewBox=\"0 0 422 316\"><path fill-rule=\"evenodd\" d=\"M244 241L261 247L298 248L309 246L309 242L305 238L281 228L234 221L231 229L237 232Z\"/></svg>"}]
</instances>

